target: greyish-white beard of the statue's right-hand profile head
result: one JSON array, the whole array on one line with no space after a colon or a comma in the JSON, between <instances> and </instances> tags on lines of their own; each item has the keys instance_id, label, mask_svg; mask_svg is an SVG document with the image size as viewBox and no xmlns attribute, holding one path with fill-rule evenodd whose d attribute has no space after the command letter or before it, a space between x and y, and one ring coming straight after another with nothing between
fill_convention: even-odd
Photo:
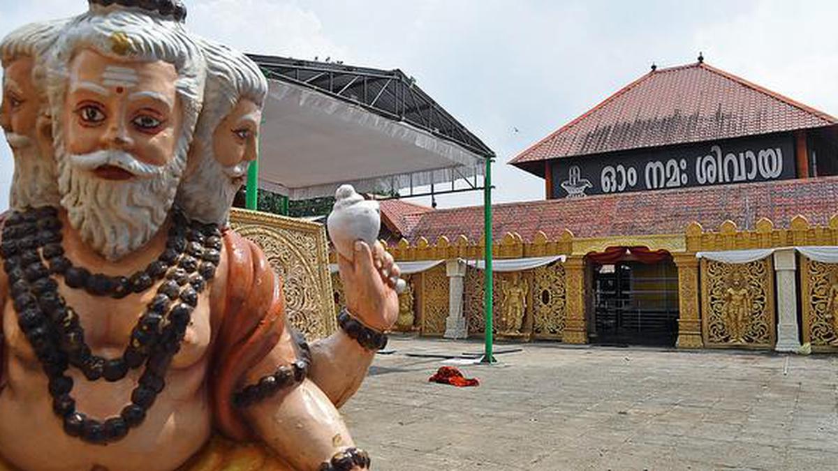
<instances>
[{"instance_id":1,"label":"greyish-white beard of the statue's right-hand profile head","mask_svg":"<svg viewBox=\"0 0 838 471\"><path fill-rule=\"evenodd\" d=\"M224 167L211 153L203 158L200 167L181 184L178 206L189 219L225 225L235 193L241 187L241 178L247 174L248 163Z\"/></svg>"}]
</instances>

